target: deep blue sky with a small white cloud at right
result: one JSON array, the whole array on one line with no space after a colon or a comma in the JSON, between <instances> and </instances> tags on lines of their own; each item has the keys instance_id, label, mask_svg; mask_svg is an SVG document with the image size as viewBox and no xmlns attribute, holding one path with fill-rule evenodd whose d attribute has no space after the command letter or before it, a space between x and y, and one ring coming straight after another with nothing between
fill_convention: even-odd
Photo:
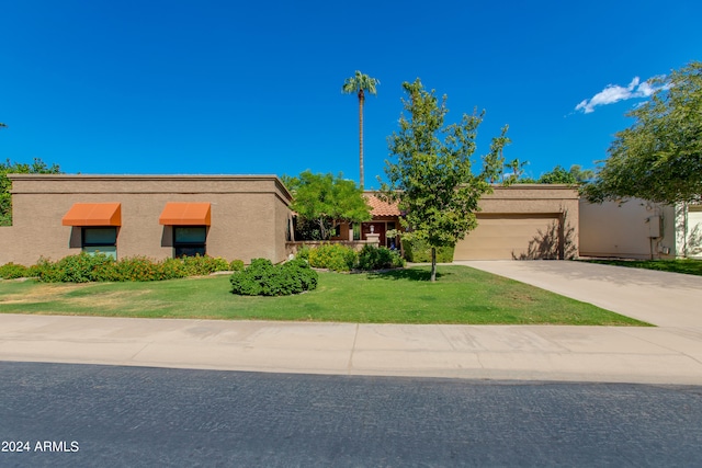
<instances>
[{"instance_id":1,"label":"deep blue sky with a small white cloud at right","mask_svg":"<svg viewBox=\"0 0 702 468\"><path fill-rule=\"evenodd\" d=\"M476 157L509 124L508 159L539 176L595 168L645 80L702 59L702 2L7 1L0 159L68 173L290 174L366 187L397 129L401 82L448 95L449 122L486 110Z\"/></svg>"}]
</instances>

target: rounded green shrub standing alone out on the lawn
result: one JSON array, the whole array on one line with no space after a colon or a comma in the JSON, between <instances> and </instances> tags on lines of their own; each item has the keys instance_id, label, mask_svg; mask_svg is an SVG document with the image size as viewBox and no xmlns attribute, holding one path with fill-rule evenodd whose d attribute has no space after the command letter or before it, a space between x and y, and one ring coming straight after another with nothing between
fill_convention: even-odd
<instances>
[{"instance_id":1,"label":"rounded green shrub standing alone out on the lawn","mask_svg":"<svg viewBox=\"0 0 702 468\"><path fill-rule=\"evenodd\" d=\"M317 272L306 261L293 260L273 265L268 259L253 259L240 272L231 274L231 293L241 296L287 296L317 287Z\"/></svg>"}]
</instances>

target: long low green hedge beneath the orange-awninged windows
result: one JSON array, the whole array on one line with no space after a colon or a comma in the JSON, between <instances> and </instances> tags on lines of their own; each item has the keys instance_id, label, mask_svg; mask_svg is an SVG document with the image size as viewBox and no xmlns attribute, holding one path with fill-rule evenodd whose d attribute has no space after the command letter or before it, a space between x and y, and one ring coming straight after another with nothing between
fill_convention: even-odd
<instances>
[{"instance_id":1,"label":"long low green hedge beneath the orange-awninged windows","mask_svg":"<svg viewBox=\"0 0 702 468\"><path fill-rule=\"evenodd\" d=\"M162 261L154 261L147 256L131 256L117 261L103 253L91 255L81 252L56 262L39 259L37 264L31 267L8 263L0 266L0 277L9 279L36 276L45 283L147 282L204 276L238 266L235 262L237 261L230 264L224 259L207 255Z\"/></svg>"}]
</instances>

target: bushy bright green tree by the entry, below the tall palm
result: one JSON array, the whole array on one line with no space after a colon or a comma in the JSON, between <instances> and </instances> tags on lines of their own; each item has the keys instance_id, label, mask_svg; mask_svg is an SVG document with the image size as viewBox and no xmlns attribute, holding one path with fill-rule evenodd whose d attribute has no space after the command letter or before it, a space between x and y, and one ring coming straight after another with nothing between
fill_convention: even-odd
<instances>
[{"instance_id":1,"label":"bushy bright green tree by the entry, below the tall palm","mask_svg":"<svg viewBox=\"0 0 702 468\"><path fill-rule=\"evenodd\" d=\"M297 213L298 225L314 227L312 237L327 240L339 222L362 222L372 218L363 191L342 174L302 172L297 178L283 175L283 183L293 194L291 209ZM309 231L309 229L308 229Z\"/></svg>"}]
</instances>

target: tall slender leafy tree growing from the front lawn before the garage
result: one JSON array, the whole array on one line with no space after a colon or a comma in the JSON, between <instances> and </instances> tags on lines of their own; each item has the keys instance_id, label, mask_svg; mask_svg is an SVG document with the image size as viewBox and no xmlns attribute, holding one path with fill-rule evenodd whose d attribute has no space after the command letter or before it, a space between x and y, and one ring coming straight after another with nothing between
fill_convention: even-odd
<instances>
[{"instance_id":1,"label":"tall slender leafy tree growing from the front lawn before the garage","mask_svg":"<svg viewBox=\"0 0 702 468\"><path fill-rule=\"evenodd\" d=\"M492 139L483 158L480 173L472 171L476 132L485 112L463 115L461 123L444 126L446 96L441 104L417 79L403 83L408 99L399 118L399 130L388 138L390 156L382 184L382 196L397 201L406 216L400 224L405 240L424 241L431 247L431 281L437 279L437 248L453 247L477 226L475 213L480 196L491 192L490 181L501 174L502 148L509 144L507 126Z\"/></svg>"}]
</instances>

